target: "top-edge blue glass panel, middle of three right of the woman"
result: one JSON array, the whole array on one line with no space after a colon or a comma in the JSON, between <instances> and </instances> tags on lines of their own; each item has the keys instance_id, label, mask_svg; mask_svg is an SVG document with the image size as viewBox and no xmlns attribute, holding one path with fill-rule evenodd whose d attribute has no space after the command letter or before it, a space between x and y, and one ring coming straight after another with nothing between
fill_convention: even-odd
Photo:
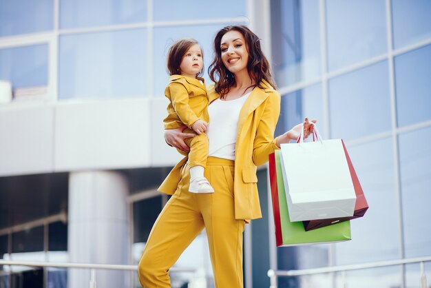
<instances>
[{"instance_id":1,"label":"top-edge blue glass panel, middle of three right of the woman","mask_svg":"<svg viewBox=\"0 0 431 288\"><path fill-rule=\"evenodd\" d=\"M331 0L326 9L329 71L386 53L384 0Z\"/></svg>"}]
</instances>

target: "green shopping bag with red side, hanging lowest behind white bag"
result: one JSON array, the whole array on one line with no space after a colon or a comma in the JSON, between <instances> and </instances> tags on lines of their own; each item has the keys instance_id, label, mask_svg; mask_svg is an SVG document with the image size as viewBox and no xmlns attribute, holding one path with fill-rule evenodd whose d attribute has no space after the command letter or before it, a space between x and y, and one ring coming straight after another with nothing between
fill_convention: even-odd
<instances>
[{"instance_id":1,"label":"green shopping bag with red side, hanging lowest behind white bag","mask_svg":"<svg viewBox=\"0 0 431 288\"><path fill-rule=\"evenodd\" d=\"M277 246L334 243L351 239L350 221L308 232L305 231L302 222L291 222L284 192L280 150L269 155L269 176Z\"/></svg>"}]
</instances>

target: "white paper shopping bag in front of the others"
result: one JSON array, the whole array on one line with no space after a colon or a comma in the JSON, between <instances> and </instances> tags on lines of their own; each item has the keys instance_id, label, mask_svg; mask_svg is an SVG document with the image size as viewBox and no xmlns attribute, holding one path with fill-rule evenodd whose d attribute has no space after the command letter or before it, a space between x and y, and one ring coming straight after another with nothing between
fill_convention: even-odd
<instances>
[{"instance_id":1,"label":"white paper shopping bag in front of the others","mask_svg":"<svg viewBox=\"0 0 431 288\"><path fill-rule=\"evenodd\" d=\"M356 194L341 139L322 141L318 132L317 138L281 145L291 222L353 216L355 210Z\"/></svg>"}]
</instances>

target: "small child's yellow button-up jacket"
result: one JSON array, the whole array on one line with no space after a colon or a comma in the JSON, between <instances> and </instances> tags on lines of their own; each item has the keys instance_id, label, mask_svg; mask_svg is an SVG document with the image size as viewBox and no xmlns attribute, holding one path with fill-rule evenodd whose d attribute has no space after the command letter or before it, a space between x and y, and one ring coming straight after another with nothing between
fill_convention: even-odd
<instances>
[{"instance_id":1,"label":"small child's yellow button-up jacket","mask_svg":"<svg viewBox=\"0 0 431 288\"><path fill-rule=\"evenodd\" d=\"M183 125L191 129L191 125L199 119L209 122L207 88L203 78L171 75L165 96L169 99L168 116L163 119L165 129Z\"/></svg>"}]
</instances>

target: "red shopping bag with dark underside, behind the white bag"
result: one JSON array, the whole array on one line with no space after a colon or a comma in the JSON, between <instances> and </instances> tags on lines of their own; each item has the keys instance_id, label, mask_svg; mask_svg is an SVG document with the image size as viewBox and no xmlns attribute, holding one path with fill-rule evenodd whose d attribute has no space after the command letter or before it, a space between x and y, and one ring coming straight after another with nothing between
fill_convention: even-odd
<instances>
[{"instance_id":1,"label":"red shopping bag with dark underside, behind the white bag","mask_svg":"<svg viewBox=\"0 0 431 288\"><path fill-rule=\"evenodd\" d=\"M362 217L365 215L365 212L368 209L368 203L367 203L367 200L365 198L364 191L362 190L361 183L359 183L359 178L357 177L357 174L355 172L355 168L353 167L352 161L350 160L350 157L348 156L348 152L346 150L346 145L344 145L343 141L341 141L341 143L343 143L344 153L346 154L346 160L348 163L348 168L350 171L350 175L352 176L353 187L355 187L355 194L356 194L355 212L353 213L353 216L350 216L350 217L303 221L304 228L306 229L306 231L325 227L328 225L332 225L334 223L339 223L339 222L343 222L346 220L352 220L355 218Z\"/></svg>"}]
</instances>

